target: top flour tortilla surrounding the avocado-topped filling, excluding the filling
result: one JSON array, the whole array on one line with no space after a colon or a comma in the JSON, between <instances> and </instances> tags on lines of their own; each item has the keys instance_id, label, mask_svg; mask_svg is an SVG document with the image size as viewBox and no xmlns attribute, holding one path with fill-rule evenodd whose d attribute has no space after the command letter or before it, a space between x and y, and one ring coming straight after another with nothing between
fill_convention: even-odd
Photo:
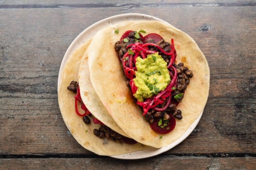
<instances>
[{"instance_id":1,"label":"top flour tortilla surrounding the avocado-topped filling, excluding the filling","mask_svg":"<svg viewBox=\"0 0 256 170\"><path fill-rule=\"evenodd\" d=\"M114 33L119 29L119 34ZM114 44L126 30L145 30L157 33L171 43L174 39L177 61L181 61L194 76L190 79L183 101L177 109L182 111L183 119L176 119L176 126L168 134L152 130L149 122L142 116L142 109L126 86ZM146 35L146 34L145 34ZM88 47L89 70L92 85L103 105L116 123L134 140L142 144L160 148L177 140L201 114L209 94L209 66L196 42L186 33L168 23L160 21L125 21L100 30ZM126 101L126 102L118 102ZM161 139L159 139L162 136Z\"/></svg>"}]
</instances>

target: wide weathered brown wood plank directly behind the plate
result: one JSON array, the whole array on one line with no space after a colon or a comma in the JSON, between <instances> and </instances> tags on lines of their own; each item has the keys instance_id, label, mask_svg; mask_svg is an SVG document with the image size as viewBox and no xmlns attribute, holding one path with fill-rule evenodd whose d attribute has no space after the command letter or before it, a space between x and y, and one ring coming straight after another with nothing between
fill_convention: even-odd
<instances>
[{"instance_id":1,"label":"wide weathered brown wood plank directly behind the plate","mask_svg":"<svg viewBox=\"0 0 256 170\"><path fill-rule=\"evenodd\" d=\"M209 62L202 119L168 153L255 152L255 7L155 9L0 9L0 154L90 154L67 131L59 112L59 66L82 30L123 12L151 14L180 28Z\"/></svg>"}]
</instances>

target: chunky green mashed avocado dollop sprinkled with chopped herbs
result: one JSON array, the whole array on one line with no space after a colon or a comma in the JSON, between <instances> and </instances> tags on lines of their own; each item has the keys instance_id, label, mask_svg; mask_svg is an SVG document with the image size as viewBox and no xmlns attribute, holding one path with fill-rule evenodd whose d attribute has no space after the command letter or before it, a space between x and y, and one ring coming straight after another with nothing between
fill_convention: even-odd
<instances>
[{"instance_id":1,"label":"chunky green mashed avocado dollop sprinkled with chopped herbs","mask_svg":"<svg viewBox=\"0 0 256 170\"><path fill-rule=\"evenodd\" d=\"M167 69L167 63L164 59L155 54L147 55L147 58L136 58L135 86L138 88L133 94L139 102L144 98L151 98L153 95L163 91L170 83L170 75Z\"/></svg>"}]
</instances>

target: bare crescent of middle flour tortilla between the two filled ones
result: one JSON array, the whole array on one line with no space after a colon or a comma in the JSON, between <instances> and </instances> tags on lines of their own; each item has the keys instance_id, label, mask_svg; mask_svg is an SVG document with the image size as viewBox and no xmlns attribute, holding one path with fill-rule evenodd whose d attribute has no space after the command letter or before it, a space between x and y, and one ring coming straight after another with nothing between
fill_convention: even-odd
<instances>
[{"instance_id":1,"label":"bare crescent of middle flour tortilla between the two filled ones","mask_svg":"<svg viewBox=\"0 0 256 170\"><path fill-rule=\"evenodd\" d=\"M78 76L80 95L87 109L106 126L123 136L129 137L110 116L109 112L100 101L100 98L92 86L88 65L88 50L85 51L81 61Z\"/></svg>"}]
</instances>

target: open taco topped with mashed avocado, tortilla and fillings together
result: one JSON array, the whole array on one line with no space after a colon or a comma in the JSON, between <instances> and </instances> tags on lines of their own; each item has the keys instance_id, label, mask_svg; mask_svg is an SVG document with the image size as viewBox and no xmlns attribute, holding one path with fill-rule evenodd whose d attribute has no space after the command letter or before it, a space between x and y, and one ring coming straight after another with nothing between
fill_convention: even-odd
<instances>
[{"instance_id":1,"label":"open taco topped with mashed avocado, tortilla and fillings together","mask_svg":"<svg viewBox=\"0 0 256 170\"><path fill-rule=\"evenodd\" d=\"M208 63L196 42L168 23L143 20L108 26L92 39L88 58L102 104L137 142L164 147L203 112Z\"/></svg>"}]
</instances>

